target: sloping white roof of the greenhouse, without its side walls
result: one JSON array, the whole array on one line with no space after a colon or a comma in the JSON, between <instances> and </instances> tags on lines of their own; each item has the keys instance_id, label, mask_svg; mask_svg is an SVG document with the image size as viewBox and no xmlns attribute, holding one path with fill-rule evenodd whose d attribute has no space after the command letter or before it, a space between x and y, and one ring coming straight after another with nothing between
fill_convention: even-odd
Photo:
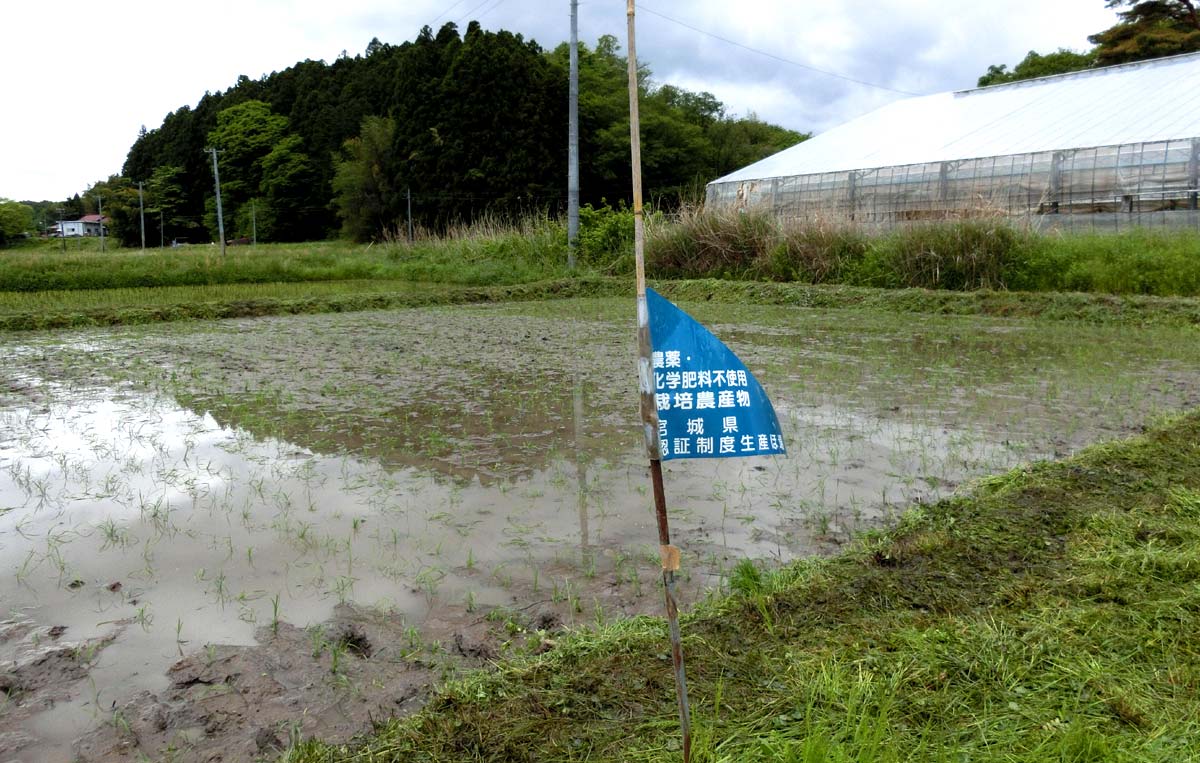
<instances>
[{"instance_id":1,"label":"sloping white roof of the greenhouse, without its side walls","mask_svg":"<svg viewBox=\"0 0 1200 763\"><path fill-rule=\"evenodd\" d=\"M1200 136L1200 53L889 103L713 181Z\"/></svg>"}]
</instances>

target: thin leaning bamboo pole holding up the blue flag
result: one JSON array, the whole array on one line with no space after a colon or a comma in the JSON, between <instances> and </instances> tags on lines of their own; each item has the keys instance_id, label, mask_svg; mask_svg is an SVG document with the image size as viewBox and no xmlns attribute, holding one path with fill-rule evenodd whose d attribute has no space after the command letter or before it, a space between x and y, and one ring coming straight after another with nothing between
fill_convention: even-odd
<instances>
[{"instance_id":1,"label":"thin leaning bamboo pole holding up the blue flag","mask_svg":"<svg viewBox=\"0 0 1200 763\"><path fill-rule=\"evenodd\" d=\"M679 729L683 733L683 759L691 761L691 719L688 708L688 678L683 665L683 641L679 635L679 606L676 601L676 571L679 549L671 545L667 499L662 488L662 456L659 445L659 411L654 402L654 368L650 365L650 314L646 304L646 221L642 211L642 139L637 108L637 50L634 29L634 0L626 0L629 19L629 145L634 170L634 258L637 268L637 387L641 397L642 431L646 453L650 459L654 487L654 516L659 528L662 558L662 593L666 599L667 626L671 632L671 662L674 667L676 698L679 704Z\"/></svg>"}]
</instances>

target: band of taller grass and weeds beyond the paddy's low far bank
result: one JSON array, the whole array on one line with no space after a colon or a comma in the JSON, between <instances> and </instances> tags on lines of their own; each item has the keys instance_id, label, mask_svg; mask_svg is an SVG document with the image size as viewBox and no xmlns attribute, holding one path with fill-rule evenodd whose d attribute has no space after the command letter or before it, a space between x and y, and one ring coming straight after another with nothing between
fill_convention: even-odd
<instances>
[{"instance_id":1,"label":"band of taller grass and weeds beyond the paddy's low far bank","mask_svg":"<svg viewBox=\"0 0 1200 763\"><path fill-rule=\"evenodd\" d=\"M648 218L658 278L725 278L937 290L1200 296L1200 233L1039 233L1003 218L914 223L890 232L758 212L684 209ZM481 220L416 241L96 251L96 241L30 242L0 253L0 293L229 283L415 281L506 286L632 272L632 212L584 208L578 265L562 220Z\"/></svg>"}]
</instances>

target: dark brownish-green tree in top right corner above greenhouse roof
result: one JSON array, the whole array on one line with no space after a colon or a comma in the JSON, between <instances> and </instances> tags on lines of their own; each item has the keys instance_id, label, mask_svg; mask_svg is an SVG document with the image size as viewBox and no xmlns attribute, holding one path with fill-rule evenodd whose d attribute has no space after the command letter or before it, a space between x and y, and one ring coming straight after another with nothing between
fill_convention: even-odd
<instances>
[{"instance_id":1,"label":"dark brownish-green tree in top right corner above greenhouse roof","mask_svg":"<svg viewBox=\"0 0 1200 763\"><path fill-rule=\"evenodd\" d=\"M1108 0L1127 8L1114 26L1088 37L1100 66L1200 50L1200 12L1195 0Z\"/></svg>"}]
</instances>

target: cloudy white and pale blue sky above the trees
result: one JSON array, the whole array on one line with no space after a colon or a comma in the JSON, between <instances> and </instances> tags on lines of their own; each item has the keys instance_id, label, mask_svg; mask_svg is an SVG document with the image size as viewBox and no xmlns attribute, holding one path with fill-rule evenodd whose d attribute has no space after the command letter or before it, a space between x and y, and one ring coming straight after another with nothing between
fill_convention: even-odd
<instances>
[{"instance_id":1,"label":"cloudy white and pale blue sky above the trees","mask_svg":"<svg viewBox=\"0 0 1200 763\"><path fill-rule=\"evenodd\" d=\"M570 35L569 10L569 0L6 2L0 197L83 192L120 173L143 125L157 127L239 74L332 61L372 37L401 43L448 20L466 29L478 19L552 48ZM1031 49L1082 49L1115 18L1104 0L648 0L638 4L637 52L658 82L821 132L905 97L898 91L968 88L988 65L1012 66ZM624 49L623 0L581 0L581 40L601 35Z\"/></svg>"}]
</instances>

